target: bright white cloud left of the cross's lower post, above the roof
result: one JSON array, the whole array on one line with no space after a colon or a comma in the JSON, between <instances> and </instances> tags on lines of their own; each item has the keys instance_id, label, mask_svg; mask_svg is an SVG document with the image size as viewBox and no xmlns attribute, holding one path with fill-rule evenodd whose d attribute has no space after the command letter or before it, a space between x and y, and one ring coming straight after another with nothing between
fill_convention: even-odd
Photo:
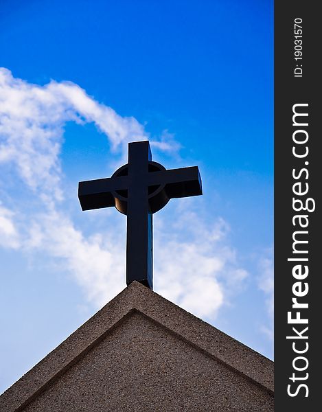
<instances>
[{"instance_id":1,"label":"bright white cloud left of the cross's lower post, above the roof","mask_svg":"<svg viewBox=\"0 0 322 412\"><path fill-rule=\"evenodd\" d=\"M73 273L89 301L101 307L122 290L124 255L117 241L104 240L100 233L84 238L70 218L57 212L38 218L38 249L62 260L62 266Z\"/></svg>"}]
</instances>

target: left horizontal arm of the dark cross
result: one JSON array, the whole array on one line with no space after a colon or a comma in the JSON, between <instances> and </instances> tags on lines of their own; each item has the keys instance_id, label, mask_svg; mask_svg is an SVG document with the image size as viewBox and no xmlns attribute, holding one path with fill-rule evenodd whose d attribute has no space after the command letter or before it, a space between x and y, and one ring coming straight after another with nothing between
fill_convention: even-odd
<instances>
[{"instance_id":1,"label":"left horizontal arm of the dark cross","mask_svg":"<svg viewBox=\"0 0 322 412\"><path fill-rule=\"evenodd\" d=\"M128 176L115 176L80 182L78 183L78 198L82 210L115 206L112 192L127 188Z\"/></svg>"}]
</instances>

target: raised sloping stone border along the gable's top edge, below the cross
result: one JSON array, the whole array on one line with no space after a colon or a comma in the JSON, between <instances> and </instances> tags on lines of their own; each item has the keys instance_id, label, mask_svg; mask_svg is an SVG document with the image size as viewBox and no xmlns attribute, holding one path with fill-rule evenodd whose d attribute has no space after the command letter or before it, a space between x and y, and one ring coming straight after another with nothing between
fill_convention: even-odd
<instances>
[{"instance_id":1,"label":"raised sloping stone border along the gable's top edge, below the cross","mask_svg":"<svg viewBox=\"0 0 322 412\"><path fill-rule=\"evenodd\" d=\"M0 396L2 412L22 411L47 388L67 373L106 336L139 314L194 350L269 394L273 394L273 362L227 334L194 317L172 302L133 282L106 304L89 321L73 332L55 350Z\"/></svg>"}]
</instances>

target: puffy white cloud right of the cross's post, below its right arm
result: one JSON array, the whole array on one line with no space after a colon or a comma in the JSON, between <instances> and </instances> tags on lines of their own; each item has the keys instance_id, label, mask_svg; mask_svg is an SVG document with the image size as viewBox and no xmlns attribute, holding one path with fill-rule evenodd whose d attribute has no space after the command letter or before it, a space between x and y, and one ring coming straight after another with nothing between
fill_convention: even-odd
<instances>
[{"instance_id":1,"label":"puffy white cloud right of the cross's post, below its right arm","mask_svg":"<svg viewBox=\"0 0 322 412\"><path fill-rule=\"evenodd\" d=\"M214 318L248 273L225 244L227 222L218 218L209 224L196 212L183 211L183 203L178 203L174 223L158 231L155 286L189 312Z\"/></svg>"}]
</instances>

